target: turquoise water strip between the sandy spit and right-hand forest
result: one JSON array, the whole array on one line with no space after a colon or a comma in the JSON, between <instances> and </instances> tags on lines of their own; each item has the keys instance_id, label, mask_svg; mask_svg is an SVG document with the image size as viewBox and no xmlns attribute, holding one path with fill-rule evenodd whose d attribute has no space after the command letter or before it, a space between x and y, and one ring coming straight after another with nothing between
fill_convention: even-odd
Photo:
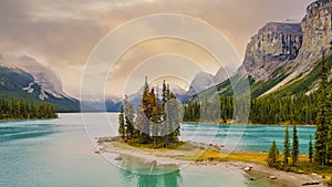
<instances>
[{"instance_id":1,"label":"turquoise water strip between the sandy spit and right-hand forest","mask_svg":"<svg viewBox=\"0 0 332 187\"><path fill-rule=\"evenodd\" d=\"M243 132L238 128L230 128L229 125L214 124L183 124L181 138L185 141L214 143L225 145L226 148L232 142L225 142L226 137L239 138L240 142L235 146L237 150L267 152L271 143L276 141L278 148L282 150L284 126L262 126L247 125ZM290 138L292 139L292 126L289 126ZM310 135L314 137L314 126L298 126L300 153L308 154Z\"/></svg>"}]
</instances>

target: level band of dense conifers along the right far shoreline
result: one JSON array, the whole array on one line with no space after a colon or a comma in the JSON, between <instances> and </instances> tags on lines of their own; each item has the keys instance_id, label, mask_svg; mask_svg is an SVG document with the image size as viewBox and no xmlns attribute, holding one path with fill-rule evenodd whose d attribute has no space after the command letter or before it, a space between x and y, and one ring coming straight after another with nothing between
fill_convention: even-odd
<instances>
[{"instance_id":1,"label":"level band of dense conifers along the right far shoreline","mask_svg":"<svg viewBox=\"0 0 332 187\"><path fill-rule=\"evenodd\" d=\"M252 98L249 123L313 125L315 123L318 100L317 93L289 95L281 98L278 96ZM235 97L220 95L217 102L208 100L189 102L185 105L184 122L230 122L234 118ZM218 107L219 111L217 111ZM220 115L218 122L209 121L218 114Z\"/></svg>"}]
</instances>

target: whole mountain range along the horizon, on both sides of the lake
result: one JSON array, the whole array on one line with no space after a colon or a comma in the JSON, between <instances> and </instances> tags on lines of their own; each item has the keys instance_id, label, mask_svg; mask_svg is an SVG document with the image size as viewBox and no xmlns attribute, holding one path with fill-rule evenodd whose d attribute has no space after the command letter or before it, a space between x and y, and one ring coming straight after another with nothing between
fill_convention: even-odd
<instances>
[{"instance_id":1,"label":"whole mountain range along the horizon, on both sides of the lake","mask_svg":"<svg viewBox=\"0 0 332 187\"><path fill-rule=\"evenodd\" d=\"M242 65L249 77L252 97L270 94L310 94L319 82L319 62L328 58L332 40L332 0L317 0L308 6L301 22L269 22L260 28L247 45ZM329 64L331 65L331 64ZM332 71L331 71L332 72ZM189 90L172 85L176 96L187 102L216 92L230 95L231 77L220 67L215 75L199 72ZM331 73L332 74L332 73ZM331 77L331 76L330 76ZM60 77L33 58L0 55L0 96L54 104L61 112L79 112L80 101L62 90ZM136 106L139 92L128 96ZM122 101L107 98L82 101L86 111L118 111Z\"/></svg>"}]
</instances>

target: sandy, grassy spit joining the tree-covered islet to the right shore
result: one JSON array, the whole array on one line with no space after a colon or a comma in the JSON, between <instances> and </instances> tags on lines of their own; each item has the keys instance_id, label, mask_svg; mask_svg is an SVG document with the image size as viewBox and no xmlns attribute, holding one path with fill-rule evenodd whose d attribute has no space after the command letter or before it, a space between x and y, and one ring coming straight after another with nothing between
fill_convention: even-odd
<instances>
[{"instance_id":1,"label":"sandy, grassy spit joining the tree-covered islet to the right shore","mask_svg":"<svg viewBox=\"0 0 332 187\"><path fill-rule=\"evenodd\" d=\"M100 138L98 144L101 146L100 150L96 153L102 154L107 159L127 159L128 157L135 157L144 163L151 164L155 163L156 165L176 165L178 167L232 167L241 173L246 177L249 177L250 180L256 180L259 178L264 178L267 180L271 180L276 185L280 186L292 186L292 187L300 187L303 184L311 184L311 187L323 187L322 177L318 175L304 175L304 174L295 174L290 172L278 170L276 168L270 168L263 163L259 163L256 160L246 160L246 159L238 159L237 157L230 156L227 158L221 156L221 159L207 159L197 162L199 156L194 154L208 154L205 155L207 158L208 156L214 156L217 154L217 149L209 149L209 153L206 153L206 149L195 148L195 150L187 150L185 149L149 149L149 148L138 148L126 145L125 143L120 142L110 142L107 138ZM189 144L197 144L197 143L189 143ZM190 145L196 146L196 145ZM197 146L201 146L198 144ZM219 150L220 152L220 150ZM112 154L112 156L110 155ZM245 154L241 156L249 155L250 153L240 153ZM255 154L255 153L251 153ZM319 183L319 184L317 184ZM317 185L312 185L317 184Z\"/></svg>"}]
</instances>

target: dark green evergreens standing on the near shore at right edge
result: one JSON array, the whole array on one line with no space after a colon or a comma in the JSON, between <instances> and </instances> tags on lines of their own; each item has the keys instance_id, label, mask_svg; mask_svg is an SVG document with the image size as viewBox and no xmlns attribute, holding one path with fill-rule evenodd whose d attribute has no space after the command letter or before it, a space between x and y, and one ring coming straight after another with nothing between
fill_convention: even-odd
<instances>
[{"instance_id":1,"label":"dark green evergreens standing on the near shore at right edge","mask_svg":"<svg viewBox=\"0 0 332 187\"><path fill-rule=\"evenodd\" d=\"M321 77L320 86L317 93L317 105L315 105L315 142L312 143L310 136L309 142L309 160L315 165L331 166L332 165L332 91L329 86L329 74L330 69L326 66L326 60L323 55L321 62ZM305 114L305 113L304 113ZM289 158L291 157L291 166L298 166L299 157L299 139L297 135L297 125L293 126L293 141L292 149L290 148L288 126L284 129L284 142L283 142L283 157L282 165L279 159L279 150L276 142L272 143L268 152L268 164L272 167L282 166L283 169L289 169Z\"/></svg>"}]
</instances>

